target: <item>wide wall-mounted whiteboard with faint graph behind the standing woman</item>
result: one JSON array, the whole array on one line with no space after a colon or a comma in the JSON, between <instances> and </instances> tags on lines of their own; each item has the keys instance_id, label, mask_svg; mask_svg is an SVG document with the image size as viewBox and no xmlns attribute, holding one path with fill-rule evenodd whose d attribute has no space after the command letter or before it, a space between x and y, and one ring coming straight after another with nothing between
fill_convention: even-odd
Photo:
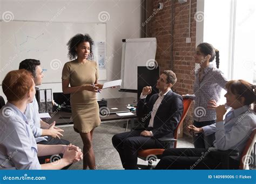
<instances>
[{"instance_id":1,"label":"wide wall-mounted whiteboard with faint graph behind the standing woman","mask_svg":"<svg viewBox=\"0 0 256 184\"><path fill-rule=\"evenodd\" d=\"M43 83L61 82L62 68L69 61L66 43L71 37L88 33L95 45L106 43L105 23L11 21L0 24L0 83L10 70L18 69L19 62L29 58L41 61ZM105 55L100 59L103 58ZM106 80L105 68L99 69L99 80Z\"/></svg>"}]
</instances>

